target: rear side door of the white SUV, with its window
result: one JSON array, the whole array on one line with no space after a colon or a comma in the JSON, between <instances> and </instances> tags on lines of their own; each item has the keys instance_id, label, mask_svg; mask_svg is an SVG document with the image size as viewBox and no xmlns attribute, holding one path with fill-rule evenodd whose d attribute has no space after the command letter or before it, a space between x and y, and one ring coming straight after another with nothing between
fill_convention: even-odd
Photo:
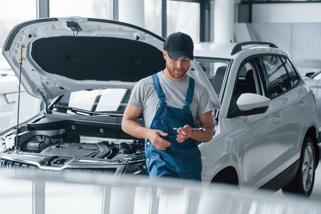
<instances>
[{"instance_id":1,"label":"rear side door of the white SUV, with its window","mask_svg":"<svg viewBox=\"0 0 321 214\"><path fill-rule=\"evenodd\" d=\"M282 165L283 171L285 163L290 166L294 162L291 159L298 154L299 141L303 140L301 135L305 116L308 115L303 113L306 112L306 92L296 87L299 77L293 73L294 71L288 72L290 68L286 68L285 57L265 55L258 58L268 77L267 88L271 99L268 112L275 130L270 135L270 143L280 146L279 155L273 162L277 167Z\"/></svg>"}]
</instances>

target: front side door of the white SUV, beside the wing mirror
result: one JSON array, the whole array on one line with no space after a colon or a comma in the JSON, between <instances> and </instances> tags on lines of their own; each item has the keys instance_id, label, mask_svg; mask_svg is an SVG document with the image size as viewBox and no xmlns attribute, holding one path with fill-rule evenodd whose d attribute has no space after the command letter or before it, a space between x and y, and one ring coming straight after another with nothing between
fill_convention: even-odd
<instances>
[{"instance_id":1,"label":"front side door of the white SUV, beside the wing mirror","mask_svg":"<svg viewBox=\"0 0 321 214\"><path fill-rule=\"evenodd\" d=\"M269 97L266 76L257 57L243 62L238 71L230 108L239 110L233 103L243 93ZM281 165L275 162L280 149L279 126L273 121L273 115L277 115L278 111L279 105L270 104L263 114L237 116L242 124L239 133L243 142L242 164L246 186L262 186L280 173Z\"/></svg>"}]
</instances>

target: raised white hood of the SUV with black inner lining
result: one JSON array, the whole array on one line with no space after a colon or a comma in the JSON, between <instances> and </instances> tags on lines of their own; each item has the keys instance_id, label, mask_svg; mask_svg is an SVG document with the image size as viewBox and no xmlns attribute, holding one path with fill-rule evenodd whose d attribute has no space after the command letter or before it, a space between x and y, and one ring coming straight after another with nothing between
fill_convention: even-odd
<instances>
[{"instance_id":1,"label":"raised white hood of the SUV with black inner lining","mask_svg":"<svg viewBox=\"0 0 321 214\"><path fill-rule=\"evenodd\" d=\"M75 90L132 88L165 68L164 38L113 20L64 17L31 20L9 33L3 55L32 96L46 103Z\"/></svg>"}]
</instances>

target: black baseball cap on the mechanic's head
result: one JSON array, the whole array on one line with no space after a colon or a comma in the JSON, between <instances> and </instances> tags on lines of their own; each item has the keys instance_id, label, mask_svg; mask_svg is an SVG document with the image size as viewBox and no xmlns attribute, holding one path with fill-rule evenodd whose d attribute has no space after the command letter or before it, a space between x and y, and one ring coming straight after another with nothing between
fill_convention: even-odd
<instances>
[{"instance_id":1,"label":"black baseball cap on the mechanic's head","mask_svg":"<svg viewBox=\"0 0 321 214\"><path fill-rule=\"evenodd\" d=\"M178 57L187 57L190 60L194 59L193 40L186 33L177 32L167 36L164 43L164 50L167 51L171 59L177 59Z\"/></svg>"}]
</instances>

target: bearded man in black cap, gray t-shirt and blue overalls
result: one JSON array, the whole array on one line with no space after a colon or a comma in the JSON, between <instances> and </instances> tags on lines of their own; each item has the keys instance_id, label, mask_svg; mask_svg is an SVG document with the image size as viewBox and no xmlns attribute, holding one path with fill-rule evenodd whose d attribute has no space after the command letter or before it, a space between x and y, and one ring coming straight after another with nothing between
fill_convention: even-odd
<instances>
[{"instance_id":1,"label":"bearded man in black cap, gray t-shirt and blue overalls","mask_svg":"<svg viewBox=\"0 0 321 214\"><path fill-rule=\"evenodd\" d=\"M166 68L137 82L124 112L123 131L146 139L150 178L201 179L202 161L196 141L210 141L214 124L207 90L186 74L193 50L189 35L169 35L163 51ZM145 127L136 122L142 111ZM204 132L188 130L195 127L196 118Z\"/></svg>"}]
</instances>

